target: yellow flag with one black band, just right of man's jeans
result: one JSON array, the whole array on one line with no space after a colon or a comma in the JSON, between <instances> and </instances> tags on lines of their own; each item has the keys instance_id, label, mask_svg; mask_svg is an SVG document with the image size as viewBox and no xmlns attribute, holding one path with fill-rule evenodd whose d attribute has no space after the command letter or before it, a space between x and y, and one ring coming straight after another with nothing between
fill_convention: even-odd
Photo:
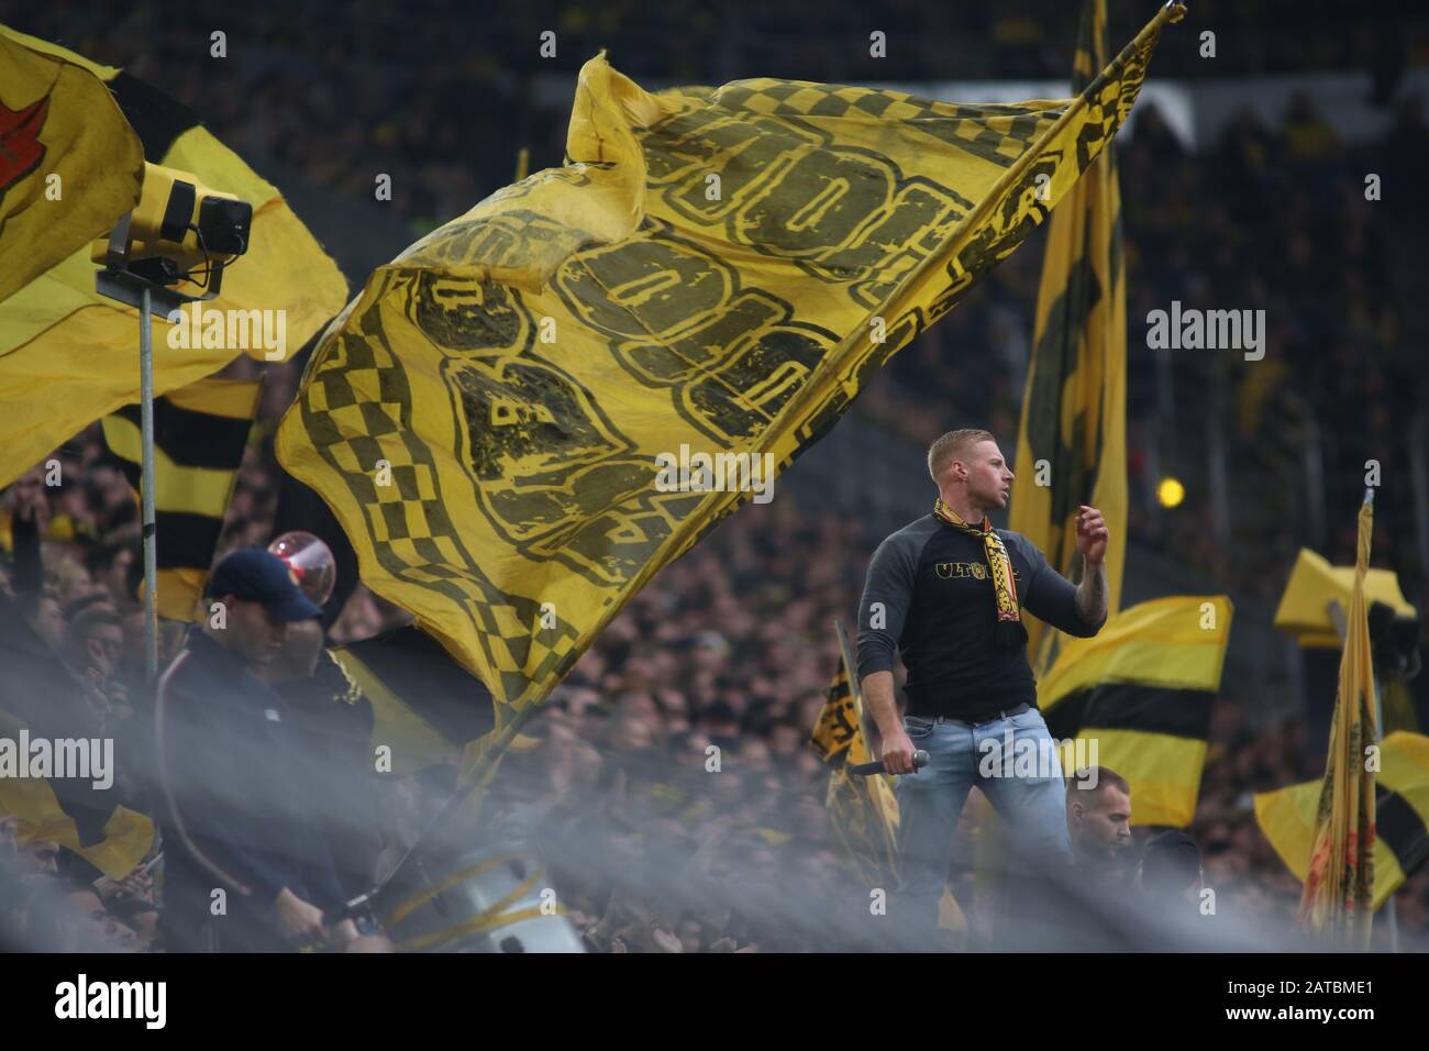
<instances>
[{"instance_id":1,"label":"yellow flag with one black band, just right of man's jeans","mask_svg":"<svg viewBox=\"0 0 1429 1051\"><path fill-rule=\"evenodd\" d=\"M1037 686L1062 766L1110 766L1132 786L1133 825L1185 828L1196 814L1210 708L1230 641L1230 599L1176 595L1067 639Z\"/></svg>"}]
</instances>

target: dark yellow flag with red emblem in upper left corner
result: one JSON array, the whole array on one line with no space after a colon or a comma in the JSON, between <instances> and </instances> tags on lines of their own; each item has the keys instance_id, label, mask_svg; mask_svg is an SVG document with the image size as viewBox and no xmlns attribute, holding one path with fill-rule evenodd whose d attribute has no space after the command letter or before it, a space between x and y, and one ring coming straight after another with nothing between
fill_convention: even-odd
<instances>
[{"instance_id":1,"label":"dark yellow flag with red emblem in upper left corner","mask_svg":"<svg viewBox=\"0 0 1429 1051\"><path fill-rule=\"evenodd\" d=\"M0 300L139 202L144 147L87 69L0 34Z\"/></svg>"}]
</instances>

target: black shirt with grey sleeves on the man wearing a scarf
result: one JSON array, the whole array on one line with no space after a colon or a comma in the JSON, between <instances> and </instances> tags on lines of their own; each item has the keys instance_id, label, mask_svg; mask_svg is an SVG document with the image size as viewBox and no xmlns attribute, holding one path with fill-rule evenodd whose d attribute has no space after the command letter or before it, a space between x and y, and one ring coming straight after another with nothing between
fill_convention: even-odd
<instances>
[{"instance_id":1,"label":"black shirt with grey sleeves on the man wearing a scarf","mask_svg":"<svg viewBox=\"0 0 1429 1051\"><path fill-rule=\"evenodd\" d=\"M1069 635L1096 635L1076 611L1076 588L1030 541L999 529L1017 583L1017 603ZM925 515L873 552L859 603L859 678L907 666L907 714L979 722L1037 704L1026 645L993 645L997 596L983 542Z\"/></svg>"}]
</instances>

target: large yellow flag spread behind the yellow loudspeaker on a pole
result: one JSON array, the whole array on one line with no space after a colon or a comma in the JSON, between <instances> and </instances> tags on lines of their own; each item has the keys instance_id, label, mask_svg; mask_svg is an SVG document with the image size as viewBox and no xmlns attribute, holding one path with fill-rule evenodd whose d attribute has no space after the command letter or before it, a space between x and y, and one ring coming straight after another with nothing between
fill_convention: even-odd
<instances>
[{"instance_id":1,"label":"large yellow flag spread behind the yellow loudspeaker on a pole","mask_svg":"<svg viewBox=\"0 0 1429 1051\"><path fill-rule=\"evenodd\" d=\"M0 39L89 70L113 93L143 142L144 157L189 172L206 186L253 204L252 247L227 269L223 292L203 305L206 312L280 312L269 319L274 333L282 323L283 350L292 355L342 309L347 285L337 265L277 189L214 139L190 110L127 73L56 44L4 26ZM83 192L107 164L127 163L120 152L103 163L84 164L76 179L66 180L66 193ZM139 400L139 310L97 295L97 270L84 245L0 303L0 405L6 408L0 418L0 448L6 450L0 485L14 480L86 425ZM180 285L179 290L194 293L194 286ZM174 327L154 319L156 395L217 372L240 352L277 360L267 346L174 349L169 345Z\"/></svg>"}]
</instances>

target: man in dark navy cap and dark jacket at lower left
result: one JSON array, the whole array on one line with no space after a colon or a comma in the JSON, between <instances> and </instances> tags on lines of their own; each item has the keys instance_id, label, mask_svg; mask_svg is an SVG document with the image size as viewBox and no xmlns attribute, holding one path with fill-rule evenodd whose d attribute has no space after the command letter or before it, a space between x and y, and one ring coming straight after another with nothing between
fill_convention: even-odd
<instances>
[{"instance_id":1,"label":"man in dark navy cap and dark jacket at lower left","mask_svg":"<svg viewBox=\"0 0 1429 1051\"><path fill-rule=\"evenodd\" d=\"M213 571L207 621L159 685L163 932L171 951L283 951L329 931L342 891L303 791L299 735L257 672L287 626L319 616L289 566L242 548Z\"/></svg>"}]
</instances>

